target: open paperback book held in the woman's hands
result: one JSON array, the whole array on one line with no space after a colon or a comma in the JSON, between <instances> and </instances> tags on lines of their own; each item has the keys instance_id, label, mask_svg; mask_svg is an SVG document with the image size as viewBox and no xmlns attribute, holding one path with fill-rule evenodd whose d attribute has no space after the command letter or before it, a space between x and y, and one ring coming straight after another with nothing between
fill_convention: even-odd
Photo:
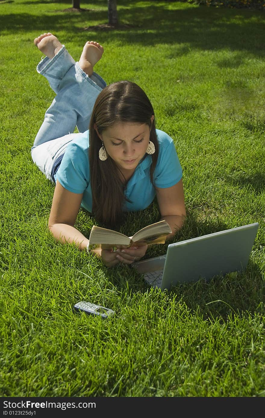
<instances>
[{"instance_id":1,"label":"open paperback book held in the woman's hands","mask_svg":"<svg viewBox=\"0 0 265 418\"><path fill-rule=\"evenodd\" d=\"M89 249L101 248L110 250L116 247L131 247L132 245L164 244L168 234L172 232L166 221L159 221L140 229L129 238L120 232L93 225L89 237Z\"/></svg>"}]
</instances>

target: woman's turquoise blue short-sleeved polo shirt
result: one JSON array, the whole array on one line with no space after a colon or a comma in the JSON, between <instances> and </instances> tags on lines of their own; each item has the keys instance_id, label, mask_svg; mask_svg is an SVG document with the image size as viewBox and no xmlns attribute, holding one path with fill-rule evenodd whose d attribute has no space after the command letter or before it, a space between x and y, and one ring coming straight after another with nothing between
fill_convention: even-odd
<instances>
[{"instance_id":1,"label":"woman's turquoise blue short-sleeved polo shirt","mask_svg":"<svg viewBox=\"0 0 265 418\"><path fill-rule=\"evenodd\" d=\"M172 138L167 133L156 130L159 142L159 157L154 171L156 187L174 186L182 178L182 168ZM63 155L54 180L72 193L83 193L81 207L92 212L92 191L88 159L88 131L75 134ZM133 176L127 183L126 196L131 202L125 203L125 210L139 211L145 209L154 200L156 190L150 181L151 155L136 167Z\"/></svg>"}]
</instances>

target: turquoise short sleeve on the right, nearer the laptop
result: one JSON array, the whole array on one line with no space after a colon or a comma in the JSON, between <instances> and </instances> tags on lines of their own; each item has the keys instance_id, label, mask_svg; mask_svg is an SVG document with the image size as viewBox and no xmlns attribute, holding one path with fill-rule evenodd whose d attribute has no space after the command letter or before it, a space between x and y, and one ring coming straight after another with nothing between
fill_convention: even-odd
<instances>
[{"instance_id":1,"label":"turquoise short sleeve on the right, nearer the laptop","mask_svg":"<svg viewBox=\"0 0 265 418\"><path fill-rule=\"evenodd\" d=\"M172 138L166 135L165 140L161 140L159 158L154 172L154 182L156 187L165 189L174 186L182 178L182 167Z\"/></svg>"}]
</instances>

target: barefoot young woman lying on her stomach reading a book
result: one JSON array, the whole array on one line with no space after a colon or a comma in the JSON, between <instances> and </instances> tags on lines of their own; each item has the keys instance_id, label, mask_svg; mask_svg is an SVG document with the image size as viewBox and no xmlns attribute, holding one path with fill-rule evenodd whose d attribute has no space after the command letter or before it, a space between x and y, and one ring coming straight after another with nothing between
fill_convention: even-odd
<instances>
[{"instance_id":1,"label":"barefoot young woman lying on her stomach reading a book","mask_svg":"<svg viewBox=\"0 0 265 418\"><path fill-rule=\"evenodd\" d=\"M125 211L145 209L156 195L161 220L174 233L186 216L182 168L172 139L156 130L153 107L135 83L106 86L93 71L103 47L86 42L78 62L51 33L34 39L45 54L37 66L56 93L35 138L31 155L55 191L48 227L107 266L131 264L147 246L88 250L75 227L80 207L114 228ZM73 133L77 126L79 133ZM89 127L89 130L88 130Z\"/></svg>"}]
</instances>

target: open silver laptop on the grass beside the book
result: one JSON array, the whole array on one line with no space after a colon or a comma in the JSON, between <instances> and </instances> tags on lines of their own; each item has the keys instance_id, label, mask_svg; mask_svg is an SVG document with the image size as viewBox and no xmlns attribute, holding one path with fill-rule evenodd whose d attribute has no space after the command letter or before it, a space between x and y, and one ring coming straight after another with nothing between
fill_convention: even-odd
<instances>
[{"instance_id":1,"label":"open silver laptop on the grass beside the book","mask_svg":"<svg viewBox=\"0 0 265 418\"><path fill-rule=\"evenodd\" d=\"M258 223L174 242L167 254L132 264L144 280L161 290L217 275L244 271L257 235Z\"/></svg>"}]
</instances>

